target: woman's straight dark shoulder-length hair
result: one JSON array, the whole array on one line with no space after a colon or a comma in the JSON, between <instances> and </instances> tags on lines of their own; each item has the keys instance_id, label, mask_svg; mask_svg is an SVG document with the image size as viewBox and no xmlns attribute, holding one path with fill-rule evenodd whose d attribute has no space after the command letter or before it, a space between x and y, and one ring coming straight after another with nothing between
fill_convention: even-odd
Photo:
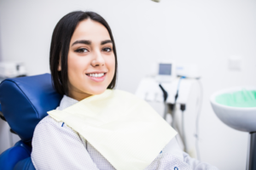
<instances>
[{"instance_id":1,"label":"woman's straight dark shoulder-length hair","mask_svg":"<svg viewBox=\"0 0 256 170\"><path fill-rule=\"evenodd\" d=\"M108 85L108 88L113 89L116 84L117 79L117 54L116 48L113 41L113 35L110 27L106 20L102 18L101 15L94 12L83 12L83 11L74 11L69 13L61 18L61 20L55 26L53 31L50 51L49 51L49 67L51 72L51 78L55 90L59 94L68 95L68 77L67 77L67 55L69 51L69 44L73 32L75 31L76 26L82 20L95 20L107 28L111 41L113 42L113 54L115 58L115 72L112 82ZM61 61L61 71L58 71L58 65Z\"/></svg>"}]
</instances>

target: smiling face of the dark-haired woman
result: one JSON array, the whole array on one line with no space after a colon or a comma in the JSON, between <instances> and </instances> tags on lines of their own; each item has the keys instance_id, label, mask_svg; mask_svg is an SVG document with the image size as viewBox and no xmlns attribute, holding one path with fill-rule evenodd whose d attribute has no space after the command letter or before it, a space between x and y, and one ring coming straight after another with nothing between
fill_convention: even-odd
<instances>
[{"instance_id":1,"label":"smiling face of the dark-haired woman","mask_svg":"<svg viewBox=\"0 0 256 170\"><path fill-rule=\"evenodd\" d=\"M114 71L113 43L108 30L94 20L80 21L67 57L68 95L81 100L102 94L112 82Z\"/></svg>"}]
</instances>

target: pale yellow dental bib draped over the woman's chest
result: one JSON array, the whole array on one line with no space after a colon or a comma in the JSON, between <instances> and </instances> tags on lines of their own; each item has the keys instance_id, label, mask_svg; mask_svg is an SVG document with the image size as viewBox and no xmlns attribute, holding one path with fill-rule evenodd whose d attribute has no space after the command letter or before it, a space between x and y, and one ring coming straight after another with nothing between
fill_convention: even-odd
<instances>
[{"instance_id":1,"label":"pale yellow dental bib draped over the woman's chest","mask_svg":"<svg viewBox=\"0 0 256 170\"><path fill-rule=\"evenodd\" d=\"M117 170L145 169L177 134L143 99L120 90L48 114L82 135Z\"/></svg>"}]
</instances>

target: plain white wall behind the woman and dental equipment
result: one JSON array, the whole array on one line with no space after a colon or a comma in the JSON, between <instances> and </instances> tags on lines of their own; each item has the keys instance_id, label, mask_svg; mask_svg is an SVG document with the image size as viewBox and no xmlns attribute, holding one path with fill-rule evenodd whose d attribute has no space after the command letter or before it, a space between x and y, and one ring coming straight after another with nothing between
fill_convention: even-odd
<instances>
[{"instance_id":1,"label":"plain white wall behind the woman and dental equipment","mask_svg":"<svg viewBox=\"0 0 256 170\"><path fill-rule=\"evenodd\" d=\"M256 86L255 1L0 0L2 61L23 62L28 75L49 72L52 31L62 16L78 9L95 11L108 20L117 46L119 89L135 93L139 81L150 73L150 65L159 59L198 64L204 88L201 161L219 169L245 169L248 134L220 122L209 98L222 88ZM240 59L240 69L229 69L233 56ZM194 100L192 96L190 103ZM154 106L162 111L162 105ZM185 116L185 128L193 136L195 106L189 104ZM0 138L1 153L9 139ZM195 139L189 145L195 152Z\"/></svg>"}]
</instances>

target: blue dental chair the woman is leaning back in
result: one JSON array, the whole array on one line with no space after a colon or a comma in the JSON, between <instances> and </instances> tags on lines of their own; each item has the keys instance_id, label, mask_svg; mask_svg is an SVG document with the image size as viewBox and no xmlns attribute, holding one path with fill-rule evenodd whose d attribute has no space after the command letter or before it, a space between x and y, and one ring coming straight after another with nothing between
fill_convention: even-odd
<instances>
[{"instance_id":1,"label":"blue dental chair the woman is leaning back in","mask_svg":"<svg viewBox=\"0 0 256 170\"><path fill-rule=\"evenodd\" d=\"M0 110L12 132L20 136L15 146L0 155L1 170L34 170L32 135L47 111L60 105L62 96L52 86L50 74L6 79L0 84Z\"/></svg>"}]
</instances>

